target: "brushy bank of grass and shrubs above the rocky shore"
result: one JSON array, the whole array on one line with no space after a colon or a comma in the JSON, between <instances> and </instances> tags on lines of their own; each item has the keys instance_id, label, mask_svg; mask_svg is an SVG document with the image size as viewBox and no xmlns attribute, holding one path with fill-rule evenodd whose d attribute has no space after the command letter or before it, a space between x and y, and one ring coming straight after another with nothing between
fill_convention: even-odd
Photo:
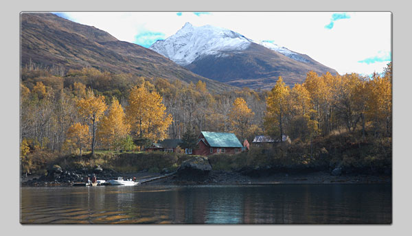
<instances>
[{"instance_id":1,"label":"brushy bank of grass and shrubs above the rocky shore","mask_svg":"<svg viewBox=\"0 0 412 236\"><path fill-rule=\"evenodd\" d=\"M161 172L163 168L175 170L188 158L186 154L165 152L110 152L97 151L94 156L58 156L36 150L23 160L23 169L33 174L45 174L53 165L62 169L113 169L116 172L131 173L148 170ZM361 134L336 133L319 137L311 143L299 140L293 143L251 146L249 152L240 154L214 154L208 157L214 170L242 171L286 171L286 172L330 172L341 167L343 173L390 174L392 145L390 137L364 139ZM24 172L24 170L23 170Z\"/></svg>"}]
</instances>

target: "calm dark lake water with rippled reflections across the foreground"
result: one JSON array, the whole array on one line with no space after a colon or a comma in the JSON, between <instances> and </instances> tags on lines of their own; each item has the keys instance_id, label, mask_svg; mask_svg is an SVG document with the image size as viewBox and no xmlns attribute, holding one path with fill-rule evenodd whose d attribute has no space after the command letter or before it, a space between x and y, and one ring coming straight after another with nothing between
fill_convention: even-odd
<instances>
[{"instance_id":1,"label":"calm dark lake water with rippled reflections across the foreground","mask_svg":"<svg viewBox=\"0 0 412 236\"><path fill-rule=\"evenodd\" d=\"M391 185L22 187L22 224L391 224Z\"/></svg>"}]
</instances>

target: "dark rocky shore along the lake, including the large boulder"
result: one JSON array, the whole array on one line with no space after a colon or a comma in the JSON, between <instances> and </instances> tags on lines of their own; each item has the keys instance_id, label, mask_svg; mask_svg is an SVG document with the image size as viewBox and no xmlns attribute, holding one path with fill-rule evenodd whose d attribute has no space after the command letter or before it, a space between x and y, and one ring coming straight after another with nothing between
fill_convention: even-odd
<instances>
[{"instance_id":1,"label":"dark rocky shore along the lake, including the large boulder","mask_svg":"<svg viewBox=\"0 0 412 236\"><path fill-rule=\"evenodd\" d=\"M275 169L273 167L248 167L230 172L214 170L207 158L196 156L184 161L172 172L162 169L160 173L143 170L137 173L119 173L113 169L63 170L54 165L43 176L22 176L21 186L71 186L73 182L84 182L87 177L98 180L135 177L142 185L257 185L257 184L333 184L333 183L391 183L391 174L358 174L345 172L341 168L330 172L308 169ZM164 176L164 178L159 178Z\"/></svg>"}]
</instances>

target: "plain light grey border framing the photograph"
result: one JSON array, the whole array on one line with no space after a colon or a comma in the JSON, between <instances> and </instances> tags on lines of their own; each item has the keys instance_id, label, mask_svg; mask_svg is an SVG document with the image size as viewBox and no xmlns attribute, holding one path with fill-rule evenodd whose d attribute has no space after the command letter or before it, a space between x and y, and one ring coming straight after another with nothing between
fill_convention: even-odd
<instances>
[{"instance_id":1,"label":"plain light grey border framing the photograph","mask_svg":"<svg viewBox=\"0 0 412 236\"><path fill-rule=\"evenodd\" d=\"M407 1L7 1L1 4L2 235L405 235L411 232L411 55ZM391 226L22 226L19 223L19 13L21 11L391 11L393 13L393 224ZM360 37L378 37L361 35ZM403 131L403 132L402 132ZM4 189L10 188L10 191Z\"/></svg>"}]
</instances>

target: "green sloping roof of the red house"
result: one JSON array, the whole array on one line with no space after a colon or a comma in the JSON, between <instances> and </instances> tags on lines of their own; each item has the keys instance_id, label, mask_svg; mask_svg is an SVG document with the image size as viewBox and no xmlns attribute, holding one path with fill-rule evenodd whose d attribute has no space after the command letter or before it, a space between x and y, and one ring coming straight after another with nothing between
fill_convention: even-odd
<instances>
[{"instance_id":1,"label":"green sloping roof of the red house","mask_svg":"<svg viewBox=\"0 0 412 236\"><path fill-rule=\"evenodd\" d=\"M243 147L233 133L202 131L202 134L211 147Z\"/></svg>"}]
</instances>

